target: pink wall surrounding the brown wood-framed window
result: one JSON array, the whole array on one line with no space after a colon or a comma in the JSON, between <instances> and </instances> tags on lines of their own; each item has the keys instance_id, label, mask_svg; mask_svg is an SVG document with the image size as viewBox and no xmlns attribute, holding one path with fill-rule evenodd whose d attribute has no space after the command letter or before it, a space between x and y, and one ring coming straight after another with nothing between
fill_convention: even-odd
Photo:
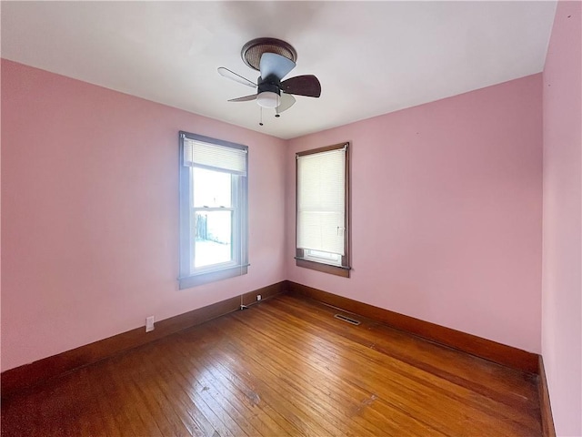
<instances>
[{"instance_id":1,"label":"pink wall surrounding the brown wood-framed window","mask_svg":"<svg viewBox=\"0 0 582 437\"><path fill-rule=\"evenodd\" d=\"M351 279L287 277L421 320L540 351L541 74L290 141L352 142Z\"/></svg>"}]
</instances>

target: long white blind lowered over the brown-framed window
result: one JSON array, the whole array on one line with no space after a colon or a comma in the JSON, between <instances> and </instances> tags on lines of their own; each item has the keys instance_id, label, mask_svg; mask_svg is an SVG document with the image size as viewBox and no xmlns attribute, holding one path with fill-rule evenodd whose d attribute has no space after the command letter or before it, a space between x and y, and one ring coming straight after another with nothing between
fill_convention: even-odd
<instances>
[{"instance_id":1,"label":"long white blind lowered over the brown-framed window","mask_svg":"<svg viewBox=\"0 0 582 437\"><path fill-rule=\"evenodd\" d=\"M297 156L297 248L345 255L346 147Z\"/></svg>"}]
</instances>

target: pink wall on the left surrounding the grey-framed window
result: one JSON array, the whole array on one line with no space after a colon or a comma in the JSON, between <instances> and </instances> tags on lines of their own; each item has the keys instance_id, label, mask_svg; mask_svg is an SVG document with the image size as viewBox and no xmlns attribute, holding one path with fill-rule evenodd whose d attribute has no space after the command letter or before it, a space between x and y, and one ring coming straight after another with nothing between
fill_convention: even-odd
<instances>
[{"instance_id":1,"label":"pink wall on the left surrounding the grey-framed window","mask_svg":"<svg viewBox=\"0 0 582 437\"><path fill-rule=\"evenodd\" d=\"M178 290L178 130L249 147L246 276ZM2 60L2 370L285 279L286 142ZM268 212L268 213L266 213Z\"/></svg>"}]
</instances>

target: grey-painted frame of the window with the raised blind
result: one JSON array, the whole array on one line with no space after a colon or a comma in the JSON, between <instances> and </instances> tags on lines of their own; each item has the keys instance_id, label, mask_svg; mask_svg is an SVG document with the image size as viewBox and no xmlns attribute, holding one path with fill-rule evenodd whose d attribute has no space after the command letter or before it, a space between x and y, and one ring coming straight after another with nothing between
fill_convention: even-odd
<instances>
[{"instance_id":1,"label":"grey-painted frame of the window with the raised blind","mask_svg":"<svg viewBox=\"0 0 582 437\"><path fill-rule=\"evenodd\" d=\"M235 278L248 272L248 147L222 139L205 137L190 132L180 131L179 137L179 290L215 282L216 280ZM230 208L206 208L206 210L234 211L231 222L232 250L237 259L193 269L195 262L195 239L193 235L197 208L193 204L192 171L194 166L185 165L185 139L220 147L232 147L245 151L246 175L234 175L231 190ZM204 166L200 166L204 168ZM209 168L212 169L212 168ZM215 170L219 171L219 170ZM226 171L227 172L227 171ZM231 173L231 175L233 175Z\"/></svg>"}]
</instances>

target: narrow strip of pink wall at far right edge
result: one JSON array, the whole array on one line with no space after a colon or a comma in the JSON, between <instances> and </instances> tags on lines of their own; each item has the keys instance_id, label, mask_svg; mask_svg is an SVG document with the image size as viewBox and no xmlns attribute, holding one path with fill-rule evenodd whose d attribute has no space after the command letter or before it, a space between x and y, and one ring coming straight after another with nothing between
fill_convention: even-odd
<instances>
[{"instance_id":1,"label":"narrow strip of pink wall at far right edge","mask_svg":"<svg viewBox=\"0 0 582 437\"><path fill-rule=\"evenodd\" d=\"M558 435L582 435L582 4L559 2L544 69L542 355Z\"/></svg>"}]
</instances>

